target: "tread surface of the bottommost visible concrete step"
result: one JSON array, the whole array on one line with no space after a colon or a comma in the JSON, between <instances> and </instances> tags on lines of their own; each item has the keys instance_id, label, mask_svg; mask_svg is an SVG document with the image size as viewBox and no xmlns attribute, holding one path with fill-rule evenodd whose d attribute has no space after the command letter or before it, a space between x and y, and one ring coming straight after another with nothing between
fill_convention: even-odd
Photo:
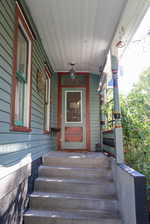
<instances>
[{"instance_id":1,"label":"tread surface of the bottommost visible concrete step","mask_svg":"<svg viewBox=\"0 0 150 224\"><path fill-rule=\"evenodd\" d=\"M38 217L48 217L48 218L64 218L64 219L91 219L91 220L99 220L101 218L105 219L116 219L120 220L119 215L114 215L111 213L108 214L100 214L99 211L94 210L79 210L79 211L47 211L47 210L28 210L24 216L38 216Z\"/></svg>"}]
</instances>

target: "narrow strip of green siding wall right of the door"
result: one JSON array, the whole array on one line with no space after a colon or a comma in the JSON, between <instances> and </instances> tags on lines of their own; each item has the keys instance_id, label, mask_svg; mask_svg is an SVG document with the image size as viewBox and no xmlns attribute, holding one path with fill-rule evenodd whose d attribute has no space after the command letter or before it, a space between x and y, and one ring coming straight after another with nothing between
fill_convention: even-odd
<instances>
[{"instance_id":1,"label":"narrow strip of green siding wall right of the door","mask_svg":"<svg viewBox=\"0 0 150 224\"><path fill-rule=\"evenodd\" d=\"M96 150L96 144L100 143L100 102L97 89L99 76L90 75L90 126L91 126L91 151Z\"/></svg>"}]
</instances>

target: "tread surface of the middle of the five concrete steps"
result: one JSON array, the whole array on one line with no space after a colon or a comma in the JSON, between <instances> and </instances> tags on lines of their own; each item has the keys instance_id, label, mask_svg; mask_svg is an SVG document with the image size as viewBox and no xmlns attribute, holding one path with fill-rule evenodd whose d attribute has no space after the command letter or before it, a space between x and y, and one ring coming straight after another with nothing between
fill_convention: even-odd
<instances>
[{"instance_id":1,"label":"tread surface of the middle of the five concrete steps","mask_svg":"<svg viewBox=\"0 0 150 224\"><path fill-rule=\"evenodd\" d=\"M98 179L98 180L97 180ZM102 183L113 183L112 180L108 180L106 178L100 179L97 178L96 180L81 180L81 179L67 179L67 178L49 178L49 177L38 177L36 181L45 181L45 182L58 182L58 183L79 183L79 184L92 184L92 185L99 185Z\"/></svg>"}]
</instances>

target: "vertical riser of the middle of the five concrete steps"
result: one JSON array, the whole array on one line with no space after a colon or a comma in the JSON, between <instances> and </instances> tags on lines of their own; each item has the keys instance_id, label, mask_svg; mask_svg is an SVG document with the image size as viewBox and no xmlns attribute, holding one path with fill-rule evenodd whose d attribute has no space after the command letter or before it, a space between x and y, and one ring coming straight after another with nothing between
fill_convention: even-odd
<instances>
[{"instance_id":1,"label":"vertical riser of the middle of the five concrete steps","mask_svg":"<svg viewBox=\"0 0 150 224\"><path fill-rule=\"evenodd\" d=\"M35 191L40 192L60 192L60 193L77 193L89 195L114 195L115 188L111 182L105 184L83 184L83 183L65 183L65 182L46 182L36 181Z\"/></svg>"}]
</instances>

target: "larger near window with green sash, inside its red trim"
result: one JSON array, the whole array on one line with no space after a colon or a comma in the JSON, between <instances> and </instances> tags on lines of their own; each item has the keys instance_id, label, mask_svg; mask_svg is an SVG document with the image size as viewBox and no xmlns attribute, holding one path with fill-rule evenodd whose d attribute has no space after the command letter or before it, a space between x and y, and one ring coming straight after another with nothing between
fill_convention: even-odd
<instances>
[{"instance_id":1,"label":"larger near window with green sash, inside its red trim","mask_svg":"<svg viewBox=\"0 0 150 224\"><path fill-rule=\"evenodd\" d=\"M27 126L27 88L28 88L28 39L23 30L18 29L17 46L17 72L16 72L16 102L15 102L15 125Z\"/></svg>"}]
</instances>

